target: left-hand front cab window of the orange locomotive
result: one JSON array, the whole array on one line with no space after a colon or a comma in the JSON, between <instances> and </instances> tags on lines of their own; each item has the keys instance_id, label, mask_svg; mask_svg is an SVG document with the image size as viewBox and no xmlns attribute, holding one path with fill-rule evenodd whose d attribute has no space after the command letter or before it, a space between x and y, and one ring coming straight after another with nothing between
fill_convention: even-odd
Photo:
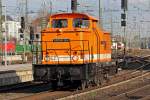
<instances>
[{"instance_id":1,"label":"left-hand front cab window of the orange locomotive","mask_svg":"<svg viewBox=\"0 0 150 100\"><path fill-rule=\"evenodd\" d=\"M52 28L66 28L68 27L67 19L53 19Z\"/></svg>"}]
</instances>

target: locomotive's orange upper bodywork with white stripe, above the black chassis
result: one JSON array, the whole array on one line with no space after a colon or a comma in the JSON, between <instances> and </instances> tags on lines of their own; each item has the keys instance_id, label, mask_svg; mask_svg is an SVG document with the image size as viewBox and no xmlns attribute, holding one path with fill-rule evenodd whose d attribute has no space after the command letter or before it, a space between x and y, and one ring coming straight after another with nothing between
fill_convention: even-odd
<instances>
[{"instance_id":1,"label":"locomotive's orange upper bodywork with white stripe, above the black chassis","mask_svg":"<svg viewBox=\"0 0 150 100\"><path fill-rule=\"evenodd\" d=\"M67 21L65 27L54 27L56 20ZM74 26L75 19L85 24ZM74 22L73 22L74 21ZM97 26L98 20L80 13L50 16L49 27L42 31L43 64L83 64L111 61L111 36ZM82 23L83 24L83 23ZM49 42L48 42L49 41ZM74 58L73 58L74 57ZM46 60L47 58L47 60Z\"/></svg>"}]
</instances>

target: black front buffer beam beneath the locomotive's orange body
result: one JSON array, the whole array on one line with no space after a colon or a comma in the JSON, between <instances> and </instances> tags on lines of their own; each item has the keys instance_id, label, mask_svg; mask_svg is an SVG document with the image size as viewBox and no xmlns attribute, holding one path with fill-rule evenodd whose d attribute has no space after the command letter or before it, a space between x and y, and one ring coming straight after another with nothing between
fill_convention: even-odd
<instances>
[{"instance_id":1,"label":"black front buffer beam beneath the locomotive's orange body","mask_svg":"<svg viewBox=\"0 0 150 100\"><path fill-rule=\"evenodd\" d=\"M95 63L90 64L33 64L34 81L93 80L97 73Z\"/></svg>"}]
</instances>

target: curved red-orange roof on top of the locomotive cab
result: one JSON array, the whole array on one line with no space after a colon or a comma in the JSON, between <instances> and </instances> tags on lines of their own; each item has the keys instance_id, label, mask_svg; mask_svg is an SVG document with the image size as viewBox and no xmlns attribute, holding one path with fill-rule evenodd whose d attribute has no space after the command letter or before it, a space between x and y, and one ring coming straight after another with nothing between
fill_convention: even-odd
<instances>
[{"instance_id":1,"label":"curved red-orange roof on top of the locomotive cab","mask_svg":"<svg viewBox=\"0 0 150 100\"><path fill-rule=\"evenodd\" d=\"M98 21L97 18L83 13L60 13L52 15L51 18L87 18L90 20Z\"/></svg>"}]
</instances>

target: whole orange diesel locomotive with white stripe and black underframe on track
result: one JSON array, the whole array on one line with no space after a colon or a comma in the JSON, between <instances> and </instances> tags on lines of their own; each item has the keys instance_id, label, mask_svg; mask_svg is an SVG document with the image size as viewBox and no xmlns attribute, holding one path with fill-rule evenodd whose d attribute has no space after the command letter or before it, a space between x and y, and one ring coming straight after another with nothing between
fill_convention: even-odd
<instances>
[{"instance_id":1,"label":"whole orange diesel locomotive with white stripe and black underframe on track","mask_svg":"<svg viewBox=\"0 0 150 100\"><path fill-rule=\"evenodd\" d=\"M51 82L53 87L75 84L85 88L100 84L115 67L111 64L111 35L97 26L98 20L81 13L50 16L41 33L42 56L33 64L34 80ZM34 43L34 44L39 44Z\"/></svg>"}]
</instances>

